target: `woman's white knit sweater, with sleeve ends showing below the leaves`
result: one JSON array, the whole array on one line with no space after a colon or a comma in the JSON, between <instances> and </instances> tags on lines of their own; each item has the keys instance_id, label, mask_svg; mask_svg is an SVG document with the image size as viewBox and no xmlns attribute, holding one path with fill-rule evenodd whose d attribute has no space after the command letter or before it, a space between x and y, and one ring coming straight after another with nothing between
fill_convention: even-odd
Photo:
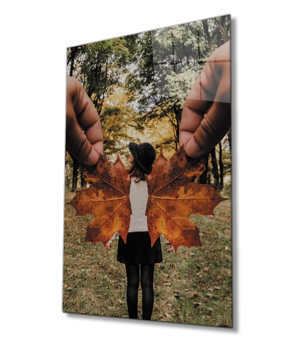
<instances>
[{"instance_id":1,"label":"woman's white knit sweater, with sleeve ends showing below the leaves","mask_svg":"<svg viewBox=\"0 0 295 354\"><path fill-rule=\"evenodd\" d=\"M144 232L148 231L147 217L145 215L148 201L147 182L139 181L135 183L135 181L136 178L132 177L130 185L130 202L132 214L130 216L129 232ZM112 241L115 240L118 235L119 233L116 232L110 239L110 243L112 243ZM169 241L163 234L160 234L160 236L164 237L166 244L169 244Z\"/></svg>"}]
</instances>

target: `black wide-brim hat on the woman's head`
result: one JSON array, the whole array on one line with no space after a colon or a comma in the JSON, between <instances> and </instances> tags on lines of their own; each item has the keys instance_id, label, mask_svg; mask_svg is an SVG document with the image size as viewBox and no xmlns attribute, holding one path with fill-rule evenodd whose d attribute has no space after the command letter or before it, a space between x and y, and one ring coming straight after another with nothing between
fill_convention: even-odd
<instances>
[{"instance_id":1,"label":"black wide-brim hat on the woman's head","mask_svg":"<svg viewBox=\"0 0 295 354\"><path fill-rule=\"evenodd\" d=\"M153 162L156 158L156 152L149 143L129 143L128 148L138 165L148 174L152 172Z\"/></svg>"}]
</instances>

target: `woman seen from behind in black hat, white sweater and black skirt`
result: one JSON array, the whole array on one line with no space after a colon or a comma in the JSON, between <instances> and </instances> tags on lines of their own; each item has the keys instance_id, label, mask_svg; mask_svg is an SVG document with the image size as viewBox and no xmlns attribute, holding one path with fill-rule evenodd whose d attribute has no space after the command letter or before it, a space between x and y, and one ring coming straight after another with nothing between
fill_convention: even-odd
<instances>
[{"instance_id":1,"label":"woman seen from behind in black hat, white sweater and black skirt","mask_svg":"<svg viewBox=\"0 0 295 354\"><path fill-rule=\"evenodd\" d=\"M131 177L130 202L132 214L126 244L118 232L109 240L107 250L112 250L112 242L119 235L117 261L125 264L127 274L127 307L129 318L137 319L138 287L142 290L142 319L151 320L154 306L154 269L155 263L163 261L160 236L151 247L151 238L147 228L145 215L148 187L146 176L152 171L156 152L149 143L130 143L131 167L128 175ZM167 252L173 247L164 237Z\"/></svg>"}]
</instances>

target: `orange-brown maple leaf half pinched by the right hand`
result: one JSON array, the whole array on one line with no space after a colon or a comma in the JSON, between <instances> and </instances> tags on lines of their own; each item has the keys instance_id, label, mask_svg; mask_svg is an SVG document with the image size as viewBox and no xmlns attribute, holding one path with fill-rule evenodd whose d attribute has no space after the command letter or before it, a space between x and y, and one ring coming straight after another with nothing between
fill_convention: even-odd
<instances>
[{"instance_id":1,"label":"orange-brown maple leaf half pinched by the right hand","mask_svg":"<svg viewBox=\"0 0 295 354\"><path fill-rule=\"evenodd\" d=\"M165 235L174 247L202 246L199 229L190 214L214 215L222 198L213 185L192 183L205 171L206 156L200 160L186 155L183 146L168 161L162 150L147 177L146 216L151 244Z\"/></svg>"}]
</instances>

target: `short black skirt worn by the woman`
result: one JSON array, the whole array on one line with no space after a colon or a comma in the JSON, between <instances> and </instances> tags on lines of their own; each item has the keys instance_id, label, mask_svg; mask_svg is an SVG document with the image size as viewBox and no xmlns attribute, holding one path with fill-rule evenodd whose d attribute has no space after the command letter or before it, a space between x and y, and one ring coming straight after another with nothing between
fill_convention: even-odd
<instances>
[{"instance_id":1,"label":"short black skirt worn by the woman","mask_svg":"<svg viewBox=\"0 0 295 354\"><path fill-rule=\"evenodd\" d=\"M163 262L160 236L151 247L146 232L129 232L126 244L119 236L117 261L123 264L155 264Z\"/></svg>"}]
</instances>

